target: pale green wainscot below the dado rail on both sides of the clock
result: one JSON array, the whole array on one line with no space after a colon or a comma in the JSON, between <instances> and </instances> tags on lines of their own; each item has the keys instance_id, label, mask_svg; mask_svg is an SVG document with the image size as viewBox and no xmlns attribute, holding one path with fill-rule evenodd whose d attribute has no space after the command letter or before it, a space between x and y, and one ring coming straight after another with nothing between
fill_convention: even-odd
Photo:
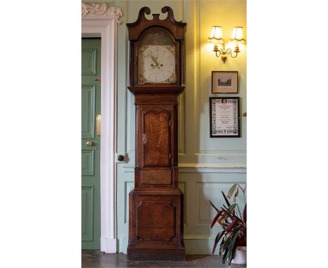
<instances>
[{"instance_id":1,"label":"pale green wainscot below the dado rail on both sides of the clock","mask_svg":"<svg viewBox=\"0 0 328 268\"><path fill-rule=\"evenodd\" d=\"M119 251L126 253L128 246L128 194L134 187L134 168L132 164L120 164L119 175L125 177L118 187L118 192L123 192L123 196L118 196L118 208L124 213L124 220L118 225L120 237ZM180 165L179 165L180 166ZM224 203L221 194L225 194L233 183L240 183L242 187L246 182L246 168L233 168L225 166L222 168L217 164L181 164L179 168L179 189L184 193L184 243L187 254L211 254L212 245L220 227L210 228L210 223L215 216L215 210L210 205L220 206ZM120 186L121 185L121 186ZM120 203L124 207L121 206ZM238 203L240 209L243 208L244 200L242 192L239 193Z\"/></svg>"}]
</instances>

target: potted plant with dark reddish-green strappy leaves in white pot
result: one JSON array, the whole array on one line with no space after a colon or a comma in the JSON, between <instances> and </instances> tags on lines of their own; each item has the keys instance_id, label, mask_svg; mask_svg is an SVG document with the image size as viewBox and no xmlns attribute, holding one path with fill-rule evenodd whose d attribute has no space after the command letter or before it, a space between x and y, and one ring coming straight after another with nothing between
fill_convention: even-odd
<instances>
[{"instance_id":1,"label":"potted plant with dark reddish-green strappy leaves in white pot","mask_svg":"<svg viewBox=\"0 0 328 268\"><path fill-rule=\"evenodd\" d=\"M236 203L237 196L239 194L239 189L244 194L244 210L240 212L238 203ZM217 234L214 240L214 245L212 249L212 257L219 241L219 255L222 256L222 263L225 264L228 260L228 264L231 262L236 264L246 263L246 185L242 188L239 184L234 184L228 191L228 195L221 192L226 201L226 205L222 204L220 208L217 208L210 201L212 207L217 210L217 215L215 215L212 220L211 228L217 223L217 225L222 227L222 231ZM229 201L233 197L233 201ZM243 260L245 259L245 260Z\"/></svg>"}]
</instances>

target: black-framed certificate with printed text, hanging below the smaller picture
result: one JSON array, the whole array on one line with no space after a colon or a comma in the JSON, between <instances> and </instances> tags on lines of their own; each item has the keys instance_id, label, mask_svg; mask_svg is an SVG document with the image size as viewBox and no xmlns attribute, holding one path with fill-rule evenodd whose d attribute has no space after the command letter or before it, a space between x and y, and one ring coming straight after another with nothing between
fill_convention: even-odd
<instances>
[{"instance_id":1,"label":"black-framed certificate with printed text, hanging below the smaller picture","mask_svg":"<svg viewBox=\"0 0 328 268\"><path fill-rule=\"evenodd\" d=\"M210 137L239 138L239 97L210 98Z\"/></svg>"}]
</instances>

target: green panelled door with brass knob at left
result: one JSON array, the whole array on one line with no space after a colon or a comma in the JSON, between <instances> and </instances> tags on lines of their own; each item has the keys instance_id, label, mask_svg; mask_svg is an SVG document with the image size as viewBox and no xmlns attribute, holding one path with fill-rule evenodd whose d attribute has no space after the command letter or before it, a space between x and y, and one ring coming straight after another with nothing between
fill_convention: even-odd
<instances>
[{"instance_id":1,"label":"green panelled door with brass knob at left","mask_svg":"<svg viewBox=\"0 0 328 268\"><path fill-rule=\"evenodd\" d=\"M82 248L100 249L100 39L82 39Z\"/></svg>"}]
</instances>

